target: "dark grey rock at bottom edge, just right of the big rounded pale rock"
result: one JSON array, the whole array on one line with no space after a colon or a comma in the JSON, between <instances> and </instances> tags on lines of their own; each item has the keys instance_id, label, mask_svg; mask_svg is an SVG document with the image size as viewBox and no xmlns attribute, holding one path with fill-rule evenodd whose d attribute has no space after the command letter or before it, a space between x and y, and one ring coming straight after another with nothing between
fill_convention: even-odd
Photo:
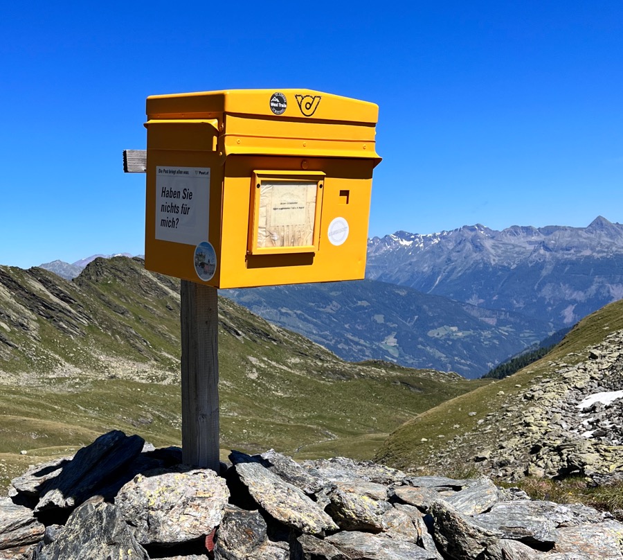
<instances>
[{"instance_id":1,"label":"dark grey rock at bottom edge, just right of the big rounded pale rock","mask_svg":"<svg viewBox=\"0 0 623 560\"><path fill-rule=\"evenodd\" d=\"M245 560L266 540L266 522L258 511L227 505L215 540L215 560Z\"/></svg>"}]
</instances>

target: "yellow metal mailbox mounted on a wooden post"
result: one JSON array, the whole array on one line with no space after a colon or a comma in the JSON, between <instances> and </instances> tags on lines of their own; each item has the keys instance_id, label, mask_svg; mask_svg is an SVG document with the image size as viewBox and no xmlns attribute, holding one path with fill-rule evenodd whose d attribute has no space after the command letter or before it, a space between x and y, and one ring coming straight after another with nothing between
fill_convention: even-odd
<instances>
[{"instance_id":1,"label":"yellow metal mailbox mounted on a wooden post","mask_svg":"<svg viewBox=\"0 0 623 560\"><path fill-rule=\"evenodd\" d=\"M215 288L362 279L377 119L307 89L150 96L145 267Z\"/></svg>"}]
</instances>

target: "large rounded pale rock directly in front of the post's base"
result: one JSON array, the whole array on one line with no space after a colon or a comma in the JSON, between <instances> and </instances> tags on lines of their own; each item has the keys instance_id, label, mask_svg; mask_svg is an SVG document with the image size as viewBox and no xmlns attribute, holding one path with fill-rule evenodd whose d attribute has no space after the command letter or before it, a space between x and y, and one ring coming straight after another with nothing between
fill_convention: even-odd
<instances>
[{"instance_id":1,"label":"large rounded pale rock directly in front of the post's base","mask_svg":"<svg viewBox=\"0 0 623 560\"><path fill-rule=\"evenodd\" d=\"M222 520L229 490L210 469L179 465L137 475L115 500L141 544L181 543L206 536Z\"/></svg>"}]
</instances>

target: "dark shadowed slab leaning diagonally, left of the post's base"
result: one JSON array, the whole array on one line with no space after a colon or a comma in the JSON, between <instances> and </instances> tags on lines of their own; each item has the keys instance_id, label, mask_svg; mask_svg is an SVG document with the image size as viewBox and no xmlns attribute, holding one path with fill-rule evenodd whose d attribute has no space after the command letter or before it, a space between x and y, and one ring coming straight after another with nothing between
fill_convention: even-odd
<instances>
[{"instance_id":1,"label":"dark shadowed slab leaning diagonally, left of the post's base","mask_svg":"<svg viewBox=\"0 0 623 560\"><path fill-rule=\"evenodd\" d=\"M142 437L128 437L118 430L101 435L78 450L60 475L45 482L35 511L75 507L96 495L98 487L107 484L141 453L143 444Z\"/></svg>"}]
</instances>

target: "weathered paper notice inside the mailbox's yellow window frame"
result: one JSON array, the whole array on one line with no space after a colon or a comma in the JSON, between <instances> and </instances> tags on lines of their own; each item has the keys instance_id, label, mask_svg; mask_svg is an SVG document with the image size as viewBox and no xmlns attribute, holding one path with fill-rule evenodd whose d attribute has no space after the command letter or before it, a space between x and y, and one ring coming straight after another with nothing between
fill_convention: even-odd
<instances>
[{"instance_id":1,"label":"weathered paper notice inside the mailbox's yellow window frame","mask_svg":"<svg viewBox=\"0 0 623 560\"><path fill-rule=\"evenodd\" d=\"M311 181L262 182L258 247L314 245L317 186Z\"/></svg>"}]
</instances>

